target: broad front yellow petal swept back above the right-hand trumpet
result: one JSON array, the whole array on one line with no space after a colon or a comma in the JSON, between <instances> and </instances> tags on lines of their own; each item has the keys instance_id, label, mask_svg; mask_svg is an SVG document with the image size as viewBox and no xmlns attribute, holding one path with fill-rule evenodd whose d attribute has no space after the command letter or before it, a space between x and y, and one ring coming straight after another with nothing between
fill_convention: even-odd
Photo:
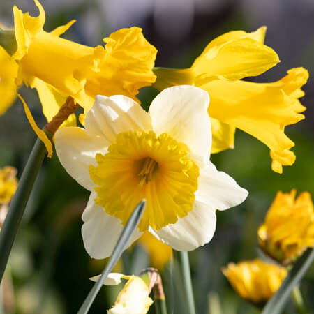
<instances>
[{"instance_id":1,"label":"broad front yellow petal swept back above the right-hand trumpet","mask_svg":"<svg viewBox=\"0 0 314 314\"><path fill-rule=\"evenodd\" d=\"M196 86L200 86L215 78L240 80L260 75L278 62L274 50L246 37L210 47L195 59L191 69L196 77Z\"/></svg>"}]
</instances>

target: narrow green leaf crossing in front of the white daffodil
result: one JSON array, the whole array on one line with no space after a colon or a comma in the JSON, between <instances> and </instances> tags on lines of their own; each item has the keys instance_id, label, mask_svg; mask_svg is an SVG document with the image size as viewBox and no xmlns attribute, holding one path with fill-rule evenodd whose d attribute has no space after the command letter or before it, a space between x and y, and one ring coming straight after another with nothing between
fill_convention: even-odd
<instances>
[{"instance_id":1,"label":"narrow green leaf crossing in front of the white daffodil","mask_svg":"<svg viewBox=\"0 0 314 314\"><path fill-rule=\"evenodd\" d=\"M132 236L138 223L140 223L145 205L145 200L142 200L142 202L140 202L140 204L138 204L137 207L134 209L133 213L130 215L130 218L128 218L128 222L126 223L124 230L122 230L122 233L117 241L116 246L114 247L109 262L107 263L101 276L98 278L98 281L91 288L91 291L89 292L87 298L85 299L77 314L85 314L89 311L89 308L91 307L91 304L93 304L94 299L96 298L96 295L98 294L100 288L103 286L105 279L107 278L108 274L110 274L110 271L112 271L112 269L114 268L114 265L117 264L117 261L124 251L124 248L126 248L126 244L128 244L128 240Z\"/></svg>"}]
</instances>

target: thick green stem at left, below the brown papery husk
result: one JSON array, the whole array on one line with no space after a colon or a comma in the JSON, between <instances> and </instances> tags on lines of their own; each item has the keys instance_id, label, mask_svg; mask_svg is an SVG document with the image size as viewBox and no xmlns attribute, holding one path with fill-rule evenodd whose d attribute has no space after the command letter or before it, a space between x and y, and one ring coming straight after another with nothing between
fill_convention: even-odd
<instances>
[{"instance_id":1,"label":"thick green stem at left, below the brown papery husk","mask_svg":"<svg viewBox=\"0 0 314 314\"><path fill-rule=\"evenodd\" d=\"M46 132L47 136L52 138L52 134ZM20 183L17 186L17 190L8 209L6 220L4 220L3 226L0 232L0 282L6 264L8 263L8 257L13 246L17 230L20 226L24 209L29 200L29 195L33 188L33 184L37 177L38 171L45 158L47 150L45 145L40 139L37 139L33 150L27 160L27 165L24 168Z\"/></svg>"}]
</instances>

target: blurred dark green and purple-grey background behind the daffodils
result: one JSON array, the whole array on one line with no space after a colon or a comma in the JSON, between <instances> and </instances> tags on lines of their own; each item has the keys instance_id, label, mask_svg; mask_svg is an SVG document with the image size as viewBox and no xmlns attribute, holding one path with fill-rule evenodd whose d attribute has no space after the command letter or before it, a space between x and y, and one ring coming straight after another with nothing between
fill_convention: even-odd
<instances>
[{"instance_id":1,"label":"blurred dark green and purple-grey background behind the daffodils","mask_svg":"<svg viewBox=\"0 0 314 314\"><path fill-rule=\"evenodd\" d=\"M296 143L297 160L284 167L283 174L271 171L269 149L255 138L237 130L235 149L215 154L211 160L218 170L230 174L249 190L246 202L218 212L214 239L190 253L197 313L259 313L240 299L227 282L221 268L228 262L259 256L257 228L278 190L314 195L314 1L312 0L42 0L47 15L45 30L75 19L65 37L84 45L101 45L102 39L123 27L142 27L149 43L158 49L156 66L188 68L209 41L231 30L254 31L267 26L265 43L278 53L281 63L255 82L280 79L286 70L303 66L310 79L301 99L306 119L286 128ZM38 15L32 0L0 2L0 22L13 25L13 5ZM22 87L20 93L31 107L38 125L44 126L36 91ZM156 96L152 88L140 92L142 103ZM36 137L19 100L0 117L0 167L12 165L18 176ZM27 206L6 272L6 313L76 313L105 260L91 260L84 250L80 216L89 193L66 174L57 156L45 160ZM117 270L137 273L150 265L147 251L135 245L124 253ZM186 313L181 278L171 262L163 269L169 309ZM314 268L301 290L314 308ZM121 287L103 287L90 313L105 313ZM312 302L312 304L311 304ZM149 313L154 313L154 307ZM171 313L171 311L169 311ZM290 304L286 313L294 313Z\"/></svg>"}]
</instances>

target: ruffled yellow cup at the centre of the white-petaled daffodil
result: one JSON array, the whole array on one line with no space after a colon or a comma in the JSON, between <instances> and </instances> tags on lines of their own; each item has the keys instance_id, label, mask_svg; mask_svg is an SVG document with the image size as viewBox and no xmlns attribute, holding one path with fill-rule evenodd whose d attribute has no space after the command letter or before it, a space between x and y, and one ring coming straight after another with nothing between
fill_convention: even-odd
<instances>
[{"instance_id":1,"label":"ruffled yellow cup at the centre of the white-petaled daffodil","mask_svg":"<svg viewBox=\"0 0 314 314\"><path fill-rule=\"evenodd\" d=\"M197 190L199 170L188 152L186 144L167 133L119 133L107 154L96 155L98 165L89 166L96 184L96 204L125 225L145 199L141 231L176 223L193 209Z\"/></svg>"}]
</instances>

